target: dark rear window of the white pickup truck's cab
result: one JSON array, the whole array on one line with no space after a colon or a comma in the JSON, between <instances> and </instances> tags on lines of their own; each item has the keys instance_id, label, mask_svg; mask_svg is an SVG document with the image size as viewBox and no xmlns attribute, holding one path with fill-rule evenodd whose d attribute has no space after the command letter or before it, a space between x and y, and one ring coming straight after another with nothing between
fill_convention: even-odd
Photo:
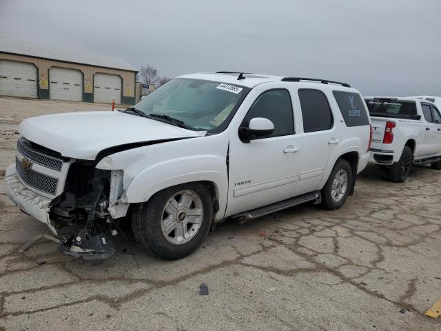
<instances>
[{"instance_id":1,"label":"dark rear window of the white pickup truck's cab","mask_svg":"<svg viewBox=\"0 0 441 331\"><path fill-rule=\"evenodd\" d=\"M417 119L415 101L366 100L369 114L375 117Z\"/></svg>"}]
</instances>

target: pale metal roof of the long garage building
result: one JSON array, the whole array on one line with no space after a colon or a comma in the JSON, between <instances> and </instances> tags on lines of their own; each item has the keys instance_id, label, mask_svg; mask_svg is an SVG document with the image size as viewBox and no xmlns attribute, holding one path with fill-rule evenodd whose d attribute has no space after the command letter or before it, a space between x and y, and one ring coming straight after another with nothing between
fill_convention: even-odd
<instances>
[{"instance_id":1,"label":"pale metal roof of the long garage building","mask_svg":"<svg viewBox=\"0 0 441 331\"><path fill-rule=\"evenodd\" d=\"M21 41L6 37L0 37L0 52L81 63L89 66L138 71L125 60L121 59L121 57L94 54L84 50L62 50L61 48L54 48L52 46L45 46L38 43L31 43L30 41Z\"/></svg>"}]
</instances>

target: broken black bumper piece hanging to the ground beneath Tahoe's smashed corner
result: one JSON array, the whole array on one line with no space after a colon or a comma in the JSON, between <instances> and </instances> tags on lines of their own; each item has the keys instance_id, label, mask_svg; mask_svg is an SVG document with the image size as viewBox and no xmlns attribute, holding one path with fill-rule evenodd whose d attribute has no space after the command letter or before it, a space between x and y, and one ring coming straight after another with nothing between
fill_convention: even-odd
<instances>
[{"instance_id":1,"label":"broken black bumper piece hanging to the ground beneath Tahoe's smashed corner","mask_svg":"<svg viewBox=\"0 0 441 331\"><path fill-rule=\"evenodd\" d=\"M74 232L72 237L61 241L59 248L65 254L85 260L105 259L115 252L112 240L103 232L92 234L87 229Z\"/></svg>"}]
</instances>

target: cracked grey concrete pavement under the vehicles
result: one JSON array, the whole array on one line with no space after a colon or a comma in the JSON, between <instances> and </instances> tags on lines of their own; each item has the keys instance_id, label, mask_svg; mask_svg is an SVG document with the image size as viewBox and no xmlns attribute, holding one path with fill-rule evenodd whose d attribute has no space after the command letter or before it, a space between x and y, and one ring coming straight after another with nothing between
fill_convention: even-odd
<instances>
[{"instance_id":1,"label":"cracked grey concrete pavement under the vehicles","mask_svg":"<svg viewBox=\"0 0 441 331\"><path fill-rule=\"evenodd\" d=\"M19 120L75 107L100 106L0 99L1 179ZM179 261L123 239L110 259L84 261L44 239L18 252L49 230L1 183L0 331L438 330L424 311L441 297L440 229L441 172L414 167L396 184L369 166L340 210L307 204L227 222Z\"/></svg>"}]
</instances>

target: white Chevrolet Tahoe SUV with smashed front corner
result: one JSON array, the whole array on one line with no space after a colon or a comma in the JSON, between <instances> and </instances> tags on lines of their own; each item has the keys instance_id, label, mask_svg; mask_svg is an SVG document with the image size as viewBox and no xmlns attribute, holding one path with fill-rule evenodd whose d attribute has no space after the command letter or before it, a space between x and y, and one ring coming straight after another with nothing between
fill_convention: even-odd
<instances>
[{"instance_id":1,"label":"white Chevrolet Tahoe SUV with smashed front corner","mask_svg":"<svg viewBox=\"0 0 441 331\"><path fill-rule=\"evenodd\" d=\"M371 138L345 83L232 72L178 77L123 111L25 119L19 132L8 196L84 259L112 254L106 233L127 219L156 256L179 259L227 218L340 208Z\"/></svg>"}]
</instances>

